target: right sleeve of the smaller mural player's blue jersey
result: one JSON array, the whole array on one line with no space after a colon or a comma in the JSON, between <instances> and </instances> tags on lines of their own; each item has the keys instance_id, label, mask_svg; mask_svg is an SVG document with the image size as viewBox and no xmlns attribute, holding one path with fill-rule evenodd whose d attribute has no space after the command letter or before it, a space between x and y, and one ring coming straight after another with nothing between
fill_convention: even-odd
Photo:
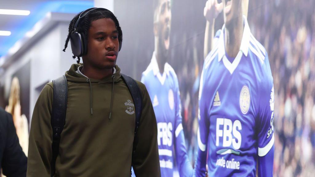
<instances>
[{"instance_id":1,"label":"right sleeve of the smaller mural player's blue jersey","mask_svg":"<svg viewBox=\"0 0 315 177\"><path fill-rule=\"evenodd\" d=\"M191 163L189 162L187 151L186 151L186 143L185 136L183 132L182 125L182 117L181 117L181 102L180 102L180 91L178 86L178 80L176 75L174 74L174 82L175 82L175 154L176 154L176 162L180 176L193 176L193 168Z\"/></svg>"}]
</instances>

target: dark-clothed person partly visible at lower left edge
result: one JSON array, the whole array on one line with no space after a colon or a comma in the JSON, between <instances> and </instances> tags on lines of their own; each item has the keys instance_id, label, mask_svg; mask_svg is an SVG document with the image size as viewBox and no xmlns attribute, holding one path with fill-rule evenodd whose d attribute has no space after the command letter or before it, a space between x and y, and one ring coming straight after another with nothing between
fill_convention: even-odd
<instances>
[{"instance_id":1,"label":"dark-clothed person partly visible at lower left edge","mask_svg":"<svg viewBox=\"0 0 315 177\"><path fill-rule=\"evenodd\" d=\"M7 177L25 177L27 158L19 144L11 114L0 108L0 169ZM1 176L1 172L0 172Z\"/></svg>"}]
</instances>

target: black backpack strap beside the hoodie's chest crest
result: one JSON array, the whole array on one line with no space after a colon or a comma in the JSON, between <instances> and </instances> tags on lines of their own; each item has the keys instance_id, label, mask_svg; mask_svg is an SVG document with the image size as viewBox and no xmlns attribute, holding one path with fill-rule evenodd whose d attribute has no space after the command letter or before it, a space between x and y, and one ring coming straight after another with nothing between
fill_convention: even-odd
<instances>
[{"instance_id":1,"label":"black backpack strap beside the hoodie's chest crest","mask_svg":"<svg viewBox=\"0 0 315 177\"><path fill-rule=\"evenodd\" d=\"M141 117L141 112L142 112L142 94L139 88L138 83L131 77L124 75L120 73L121 76L123 77L123 80L127 84L129 91L131 93L132 99L134 100L135 103L135 113L136 113L136 123L135 123L135 137L134 137L134 144L132 148L132 152L135 153L135 150L137 148L138 144L138 138L137 138L137 133L138 133L138 128L140 125L140 117Z\"/></svg>"}]
</instances>

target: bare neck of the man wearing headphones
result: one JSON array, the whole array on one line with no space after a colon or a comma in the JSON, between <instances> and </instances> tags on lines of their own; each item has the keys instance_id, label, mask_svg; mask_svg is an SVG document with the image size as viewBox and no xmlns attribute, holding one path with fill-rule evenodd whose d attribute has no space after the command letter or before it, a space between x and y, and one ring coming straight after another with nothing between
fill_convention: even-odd
<instances>
[{"instance_id":1,"label":"bare neck of the man wearing headphones","mask_svg":"<svg viewBox=\"0 0 315 177\"><path fill-rule=\"evenodd\" d=\"M105 77L111 76L113 74L113 68L99 70L99 69L95 69L95 68L84 65L81 69L81 72L86 77L102 80Z\"/></svg>"}]
</instances>

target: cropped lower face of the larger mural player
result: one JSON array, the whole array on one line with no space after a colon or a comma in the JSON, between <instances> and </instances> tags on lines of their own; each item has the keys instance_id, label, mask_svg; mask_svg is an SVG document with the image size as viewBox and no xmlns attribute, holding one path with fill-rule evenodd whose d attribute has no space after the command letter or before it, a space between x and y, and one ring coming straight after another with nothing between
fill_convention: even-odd
<instances>
[{"instance_id":1,"label":"cropped lower face of the larger mural player","mask_svg":"<svg viewBox=\"0 0 315 177\"><path fill-rule=\"evenodd\" d=\"M223 1L223 16L224 23L229 25L233 19L239 15L239 11L242 10L242 0L222 0Z\"/></svg>"}]
</instances>

